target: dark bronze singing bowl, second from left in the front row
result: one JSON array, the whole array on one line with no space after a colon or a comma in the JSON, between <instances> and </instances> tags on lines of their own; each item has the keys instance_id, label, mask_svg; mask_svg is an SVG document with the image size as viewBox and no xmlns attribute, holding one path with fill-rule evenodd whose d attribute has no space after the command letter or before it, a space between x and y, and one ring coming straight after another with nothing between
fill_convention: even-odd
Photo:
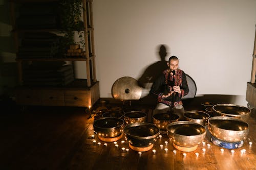
<instances>
[{"instance_id":1,"label":"dark bronze singing bowl, second from left in the front row","mask_svg":"<svg viewBox=\"0 0 256 170\"><path fill-rule=\"evenodd\" d=\"M128 124L123 128L125 139L134 147L148 147L157 141L160 130L150 123Z\"/></svg>"}]
</instances>

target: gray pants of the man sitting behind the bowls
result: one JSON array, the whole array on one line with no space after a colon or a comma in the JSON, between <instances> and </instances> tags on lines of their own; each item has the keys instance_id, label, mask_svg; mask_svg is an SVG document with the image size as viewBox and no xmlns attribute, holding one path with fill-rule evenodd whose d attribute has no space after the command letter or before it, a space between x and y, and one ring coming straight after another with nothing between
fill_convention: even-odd
<instances>
[{"instance_id":1,"label":"gray pants of the man sitting behind the bowls","mask_svg":"<svg viewBox=\"0 0 256 170\"><path fill-rule=\"evenodd\" d=\"M180 116L180 120L183 120L185 110L184 110L182 105L178 105L178 106L175 106L175 107L172 108L172 107L167 106L165 104L158 103L156 108L153 110L153 115L155 115L157 113L166 113L168 111L171 111L174 114L177 114L178 116Z\"/></svg>"}]
</instances>

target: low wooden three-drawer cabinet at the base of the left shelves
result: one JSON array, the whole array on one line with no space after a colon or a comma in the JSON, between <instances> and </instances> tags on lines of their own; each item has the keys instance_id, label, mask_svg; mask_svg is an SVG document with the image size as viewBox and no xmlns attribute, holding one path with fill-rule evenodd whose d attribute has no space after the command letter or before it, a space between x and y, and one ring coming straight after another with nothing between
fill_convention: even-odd
<instances>
[{"instance_id":1,"label":"low wooden three-drawer cabinet at the base of the left shelves","mask_svg":"<svg viewBox=\"0 0 256 170\"><path fill-rule=\"evenodd\" d=\"M79 82L79 80L76 81ZM87 89L81 87L18 87L16 91L17 103L20 105L89 107L99 99L99 82L93 83Z\"/></svg>"}]
</instances>

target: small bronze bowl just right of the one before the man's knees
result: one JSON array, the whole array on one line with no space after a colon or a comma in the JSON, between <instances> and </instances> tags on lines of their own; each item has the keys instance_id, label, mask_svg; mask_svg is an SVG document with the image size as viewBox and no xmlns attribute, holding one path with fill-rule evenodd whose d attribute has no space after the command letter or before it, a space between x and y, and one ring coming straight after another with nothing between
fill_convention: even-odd
<instances>
[{"instance_id":1,"label":"small bronze bowl just right of the one before the man's knees","mask_svg":"<svg viewBox=\"0 0 256 170\"><path fill-rule=\"evenodd\" d=\"M189 122L195 122L195 123L201 124L203 126L207 125L209 117L210 117L209 114L207 114L203 111L198 111L198 110L190 110L190 111L186 111L184 113L185 120L187 120Z\"/></svg>"}]
</instances>

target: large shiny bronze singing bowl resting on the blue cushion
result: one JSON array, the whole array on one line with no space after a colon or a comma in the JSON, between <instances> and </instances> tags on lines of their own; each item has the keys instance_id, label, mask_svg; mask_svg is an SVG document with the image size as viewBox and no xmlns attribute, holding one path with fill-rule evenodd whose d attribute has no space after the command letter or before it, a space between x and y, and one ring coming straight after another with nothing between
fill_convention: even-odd
<instances>
[{"instance_id":1,"label":"large shiny bronze singing bowl resting on the blue cushion","mask_svg":"<svg viewBox=\"0 0 256 170\"><path fill-rule=\"evenodd\" d=\"M212 136L227 142L242 141L249 133L249 125L246 122L228 116L209 118L208 129Z\"/></svg>"}]
</instances>

